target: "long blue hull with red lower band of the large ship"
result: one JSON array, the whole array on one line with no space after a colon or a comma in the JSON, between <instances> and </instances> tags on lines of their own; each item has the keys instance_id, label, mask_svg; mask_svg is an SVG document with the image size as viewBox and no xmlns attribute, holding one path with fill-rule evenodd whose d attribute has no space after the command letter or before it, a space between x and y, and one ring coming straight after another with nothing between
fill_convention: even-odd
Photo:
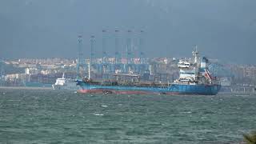
<instances>
[{"instance_id":1,"label":"long blue hull with red lower band of the large ship","mask_svg":"<svg viewBox=\"0 0 256 144\"><path fill-rule=\"evenodd\" d=\"M171 84L166 87L147 86L103 86L88 82L78 82L81 86L79 93L107 93L107 94L202 94L215 95L221 89L220 85L186 85Z\"/></svg>"}]
</instances>

